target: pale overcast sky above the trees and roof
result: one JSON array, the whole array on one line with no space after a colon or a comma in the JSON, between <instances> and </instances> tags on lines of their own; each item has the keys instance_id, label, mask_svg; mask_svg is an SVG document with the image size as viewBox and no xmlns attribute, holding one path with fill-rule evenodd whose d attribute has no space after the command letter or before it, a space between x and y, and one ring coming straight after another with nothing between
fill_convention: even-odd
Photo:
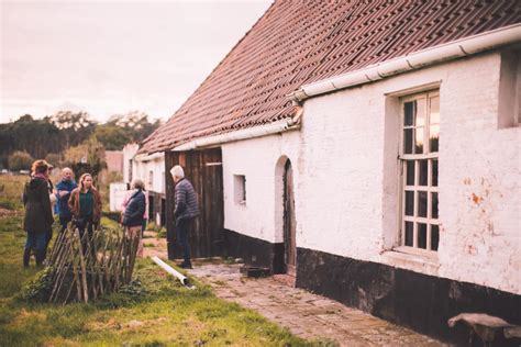
<instances>
[{"instance_id":1,"label":"pale overcast sky above the trees and roof","mask_svg":"<svg viewBox=\"0 0 521 347\"><path fill-rule=\"evenodd\" d=\"M0 1L0 123L59 110L166 120L271 2Z\"/></svg>"}]
</instances>

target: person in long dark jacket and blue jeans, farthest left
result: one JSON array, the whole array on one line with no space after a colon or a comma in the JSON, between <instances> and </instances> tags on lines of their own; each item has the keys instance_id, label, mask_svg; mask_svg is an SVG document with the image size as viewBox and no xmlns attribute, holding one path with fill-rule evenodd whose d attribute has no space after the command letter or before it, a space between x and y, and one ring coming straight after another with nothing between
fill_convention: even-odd
<instances>
[{"instance_id":1,"label":"person in long dark jacket and blue jeans, farthest left","mask_svg":"<svg viewBox=\"0 0 521 347\"><path fill-rule=\"evenodd\" d=\"M23 191L25 216L23 228L27 233L23 253L23 266L27 267L31 259L31 249L34 249L36 265L42 265L45 259L48 231L53 228L53 211L48 193L48 169L45 160L33 163L31 180Z\"/></svg>"}]
</instances>

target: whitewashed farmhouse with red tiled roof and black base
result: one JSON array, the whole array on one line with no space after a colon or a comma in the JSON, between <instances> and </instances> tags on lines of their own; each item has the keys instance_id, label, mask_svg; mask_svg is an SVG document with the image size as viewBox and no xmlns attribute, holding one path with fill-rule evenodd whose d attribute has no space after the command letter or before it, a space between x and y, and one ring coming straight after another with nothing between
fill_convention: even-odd
<instances>
[{"instance_id":1,"label":"whitewashed farmhouse with red tiled roof and black base","mask_svg":"<svg viewBox=\"0 0 521 347\"><path fill-rule=\"evenodd\" d=\"M520 324L520 44L516 0L276 1L140 153L193 182L195 256L442 338Z\"/></svg>"}]
</instances>

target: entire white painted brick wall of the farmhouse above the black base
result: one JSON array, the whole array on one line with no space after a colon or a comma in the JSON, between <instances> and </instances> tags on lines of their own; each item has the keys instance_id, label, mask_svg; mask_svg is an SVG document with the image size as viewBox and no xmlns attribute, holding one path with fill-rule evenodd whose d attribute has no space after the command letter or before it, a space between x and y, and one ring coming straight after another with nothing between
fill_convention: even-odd
<instances>
[{"instance_id":1,"label":"entire white painted brick wall of the farmhouse above the black base","mask_svg":"<svg viewBox=\"0 0 521 347\"><path fill-rule=\"evenodd\" d=\"M282 240L275 167L287 155L298 247L521 293L521 128L498 130L499 67L491 53L312 98L300 132L224 145L225 227ZM435 81L441 236L437 260L424 261L388 250L398 212L397 133L389 126L399 115L389 107L386 113L386 100ZM233 201L233 175L246 176L246 205Z\"/></svg>"}]
</instances>

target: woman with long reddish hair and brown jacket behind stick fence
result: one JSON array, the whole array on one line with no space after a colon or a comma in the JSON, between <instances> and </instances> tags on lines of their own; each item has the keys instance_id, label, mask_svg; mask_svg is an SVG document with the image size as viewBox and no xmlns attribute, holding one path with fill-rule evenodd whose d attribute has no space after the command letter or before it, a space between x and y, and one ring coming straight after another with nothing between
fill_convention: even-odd
<instances>
[{"instance_id":1,"label":"woman with long reddish hair and brown jacket behind stick fence","mask_svg":"<svg viewBox=\"0 0 521 347\"><path fill-rule=\"evenodd\" d=\"M73 213L73 225L84 236L85 230L90 237L101 220L101 197L92 184L92 176L84 174L79 178L79 187L70 192L68 206Z\"/></svg>"}]
</instances>

